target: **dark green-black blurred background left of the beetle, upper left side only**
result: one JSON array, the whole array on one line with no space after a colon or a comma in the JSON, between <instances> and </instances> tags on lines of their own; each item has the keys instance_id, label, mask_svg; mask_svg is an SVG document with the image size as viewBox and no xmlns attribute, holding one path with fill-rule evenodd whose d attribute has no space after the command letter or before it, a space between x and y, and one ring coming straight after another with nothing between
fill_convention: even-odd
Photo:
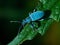
<instances>
[{"instance_id":1,"label":"dark green-black blurred background left of the beetle, upper left side only","mask_svg":"<svg viewBox=\"0 0 60 45\"><path fill-rule=\"evenodd\" d=\"M9 43L18 33L19 23L36 7L38 0L0 0L0 43Z\"/></svg>"}]
</instances>

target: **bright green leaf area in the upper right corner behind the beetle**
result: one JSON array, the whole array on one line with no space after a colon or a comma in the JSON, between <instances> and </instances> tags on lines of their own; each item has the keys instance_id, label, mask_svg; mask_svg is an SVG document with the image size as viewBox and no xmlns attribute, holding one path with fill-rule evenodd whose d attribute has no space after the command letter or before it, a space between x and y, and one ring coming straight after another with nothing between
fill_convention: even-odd
<instances>
[{"instance_id":1,"label":"bright green leaf area in the upper right corner behind the beetle","mask_svg":"<svg viewBox=\"0 0 60 45\"><path fill-rule=\"evenodd\" d=\"M50 18L60 21L60 0L40 0L43 3L43 10L52 10Z\"/></svg>"}]
</instances>

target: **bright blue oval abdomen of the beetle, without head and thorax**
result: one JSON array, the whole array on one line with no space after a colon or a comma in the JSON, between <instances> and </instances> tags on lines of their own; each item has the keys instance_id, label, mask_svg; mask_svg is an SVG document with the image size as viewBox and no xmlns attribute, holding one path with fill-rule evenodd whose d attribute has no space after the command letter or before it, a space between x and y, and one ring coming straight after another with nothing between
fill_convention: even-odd
<instances>
[{"instance_id":1,"label":"bright blue oval abdomen of the beetle, without head and thorax","mask_svg":"<svg viewBox=\"0 0 60 45\"><path fill-rule=\"evenodd\" d=\"M29 15L29 17L31 18L32 21L36 21L36 20L42 18L43 16L44 16L43 11L36 11Z\"/></svg>"}]
</instances>

